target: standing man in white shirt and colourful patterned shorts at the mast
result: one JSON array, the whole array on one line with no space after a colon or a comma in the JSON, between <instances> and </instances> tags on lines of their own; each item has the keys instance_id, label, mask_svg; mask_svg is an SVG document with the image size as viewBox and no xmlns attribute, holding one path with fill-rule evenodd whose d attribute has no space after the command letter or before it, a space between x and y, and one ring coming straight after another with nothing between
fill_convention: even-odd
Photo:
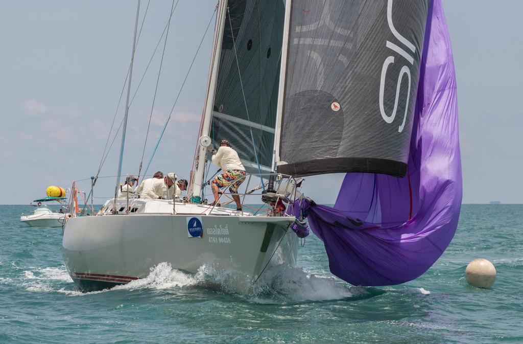
<instances>
[{"instance_id":1,"label":"standing man in white shirt and colourful patterned shorts at the mast","mask_svg":"<svg viewBox=\"0 0 523 344\"><path fill-rule=\"evenodd\" d=\"M214 202L211 205L220 206L218 203L219 188L229 187L232 198L236 202L236 209L242 210L240 203L240 196L237 195L238 187L245 180L245 168L243 167L238 153L231 147L228 140L220 141L220 148L212 151L212 163L218 165L222 169L222 174L215 177L211 182L212 194L214 195Z\"/></svg>"}]
</instances>

